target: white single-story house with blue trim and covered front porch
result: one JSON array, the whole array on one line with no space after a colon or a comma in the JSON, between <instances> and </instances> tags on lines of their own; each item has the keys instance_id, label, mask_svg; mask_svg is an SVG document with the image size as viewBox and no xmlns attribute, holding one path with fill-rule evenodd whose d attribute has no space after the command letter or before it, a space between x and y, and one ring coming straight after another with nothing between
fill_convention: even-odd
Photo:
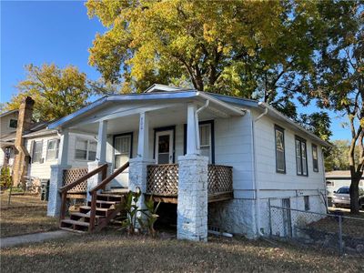
<instances>
[{"instance_id":1,"label":"white single-story house with blue trim and covered front porch","mask_svg":"<svg viewBox=\"0 0 364 273\"><path fill-rule=\"evenodd\" d=\"M328 144L265 103L155 85L143 94L104 96L48 126L61 134L52 167L48 215L57 194L70 132L96 135L96 160L113 187L177 203L177 238L207 239L207 223L250 238L268 234L268 202L325 212L322 147ZM230 172L232 170L232 177ZM88 179L88 189L101 177Z\"/></svg>"}]
</instances>

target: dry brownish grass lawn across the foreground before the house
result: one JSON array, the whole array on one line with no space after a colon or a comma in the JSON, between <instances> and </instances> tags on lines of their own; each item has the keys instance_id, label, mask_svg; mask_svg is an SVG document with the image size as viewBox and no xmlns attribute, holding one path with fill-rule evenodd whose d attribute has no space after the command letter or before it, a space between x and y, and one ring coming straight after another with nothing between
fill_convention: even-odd
<instances>
[{"instance_id":1,"label":"dry brownish grass lawn across the foreground before the house","mask_svg":"<svg viewBox=\"0 0 364 273\"><path fill-rule=\"evenodd\" d=\"M363 272L363 257L244 238L208 243L127 237L116 231L74 235L1 251L2 272Z\"/></svg>"}]
</instances>

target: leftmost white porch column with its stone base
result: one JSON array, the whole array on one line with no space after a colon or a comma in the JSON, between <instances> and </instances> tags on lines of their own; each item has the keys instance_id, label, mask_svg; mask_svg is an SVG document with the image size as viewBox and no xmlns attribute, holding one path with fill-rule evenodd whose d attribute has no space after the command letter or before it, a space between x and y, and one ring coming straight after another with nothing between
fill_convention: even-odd
<instances>
[{"instance_id":1,"label":"leftmost white porch column with its stone base","mask_svg":"<svg viewBox=\"0 0 364 273\"><path fill-rule=\"evenodd\" d=\"M51 177L49 184L49 200L47 204L46 215L49 217L59 216L61 209L61 196L58 192L59 187L63 184L63 171L70 168L68 166L68 143L69 132L67 129L62 131L59 143L58 164L51 166Z\"/></svg>"}]
</instances>

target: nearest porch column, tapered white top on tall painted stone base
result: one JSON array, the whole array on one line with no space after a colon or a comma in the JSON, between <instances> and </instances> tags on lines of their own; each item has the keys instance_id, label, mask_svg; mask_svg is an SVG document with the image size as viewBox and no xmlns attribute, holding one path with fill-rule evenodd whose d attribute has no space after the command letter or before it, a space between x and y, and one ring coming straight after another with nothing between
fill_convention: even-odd
<instances>
[{"instance_id":1,"label":"nearest porch column, tapered white top on tall painted stone base","mask_svg":"<svg viewBox=\"0 0 364 273\"><path fill-rule=\"evenodd\" d=\"M207 163L199 156L197 107L187 107L187 155L178 157L177 238L207 241Z\"/></svg>"}]
</instances>

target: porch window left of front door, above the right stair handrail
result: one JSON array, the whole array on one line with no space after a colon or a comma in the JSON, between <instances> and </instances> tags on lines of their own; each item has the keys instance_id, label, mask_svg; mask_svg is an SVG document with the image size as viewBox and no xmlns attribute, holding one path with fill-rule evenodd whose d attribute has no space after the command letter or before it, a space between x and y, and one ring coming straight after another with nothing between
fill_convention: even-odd
<instances>
[{"instance_id":1,"label":"porch window left of front door, above the right stair handrail","mask_svg":"<svg viewBox=\"0 0 364 273\"><path fill-rule=\"evenodd\" d=\"M114 136L114 167L119 168L129 161L132 153L132 134Z\"/></svg>"}]
</instances>

